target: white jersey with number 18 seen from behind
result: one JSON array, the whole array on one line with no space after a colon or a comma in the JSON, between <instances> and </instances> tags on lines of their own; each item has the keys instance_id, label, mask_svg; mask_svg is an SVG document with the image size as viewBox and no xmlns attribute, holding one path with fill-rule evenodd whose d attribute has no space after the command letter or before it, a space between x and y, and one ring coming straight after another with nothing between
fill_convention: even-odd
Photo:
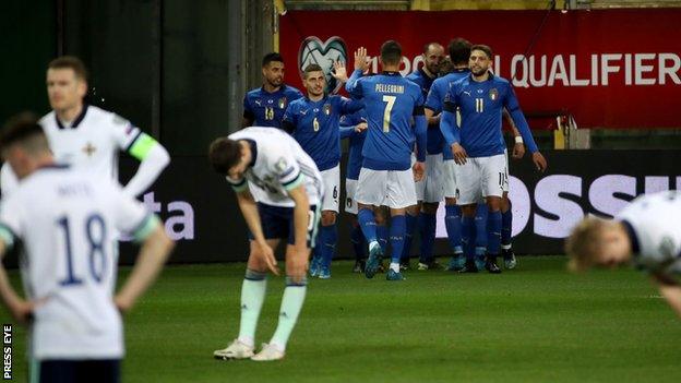
<instances>
[{"instance_id":1,"label":"white jersey with number 18 seen from behind","mask_svg":"<svg viewBox=\"0 0 681 383\"><path fill-rule=\"evenodd\" d=\"M0 236L21 239L26 296L38 301L32 326L35 359L118 359L121 318L111 291L116 234L144 236L154 218L113 181L67 166L25 178L0 208Z\"/></svg>"}]
</instances>

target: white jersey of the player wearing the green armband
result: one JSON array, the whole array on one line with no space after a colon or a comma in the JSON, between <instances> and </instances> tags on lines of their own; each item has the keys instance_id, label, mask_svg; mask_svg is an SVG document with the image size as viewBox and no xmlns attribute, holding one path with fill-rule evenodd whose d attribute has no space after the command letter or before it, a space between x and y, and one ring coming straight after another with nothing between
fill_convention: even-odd
<instances>
[{"instance_id":1,"label":"white jersey of the player wearing the green armband","mask_svg":"<svg viewBox=\"0 0 681 383\"><path fill-rule=\"evenodd\" d=\"M69 125L59 121L55 111L45 115L40 125L57 163L113 180L118 180L119 152L128 151L142 133L122 117L86 104ZM0 180L3 195L16 189L16 176L7 164Z\"/></svg>"}]
</instances>

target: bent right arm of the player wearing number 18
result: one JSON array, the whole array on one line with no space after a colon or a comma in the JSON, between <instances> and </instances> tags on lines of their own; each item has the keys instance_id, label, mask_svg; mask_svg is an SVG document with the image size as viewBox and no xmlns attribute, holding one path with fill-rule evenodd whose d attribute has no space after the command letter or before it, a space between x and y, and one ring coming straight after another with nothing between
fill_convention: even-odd
<instances>
[{"instance_id":1,"label":"bent right arm of the player wearing number 18","mask_svg":"<svg viewBox=\"0 0 681 383\"><path fill-rule=\"evenodd\" d=\"M121 312L129 311L140 296L148 289L160 273L175 242L155 215L147 215L134 230L136 241L142 242L132 273L120 291L113 298Z\"/></svg>"}]
</instances>

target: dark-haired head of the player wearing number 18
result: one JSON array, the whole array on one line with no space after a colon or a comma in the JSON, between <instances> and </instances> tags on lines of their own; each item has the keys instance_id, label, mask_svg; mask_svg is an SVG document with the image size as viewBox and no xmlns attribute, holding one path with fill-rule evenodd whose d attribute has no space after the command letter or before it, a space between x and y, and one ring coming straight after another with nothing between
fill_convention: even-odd
<instances>
[{"instance_id":1,"label":"dark-haired head of the player wearing number 18","mask_svg":"<svg viewBox=\"0 0 681 383\"><path fill-rule=\"evenodd\" d=\"M0 152L20 179L52 160L47 136L31 112L11 118L0 133Z\"/></svg>"}]
</instances>

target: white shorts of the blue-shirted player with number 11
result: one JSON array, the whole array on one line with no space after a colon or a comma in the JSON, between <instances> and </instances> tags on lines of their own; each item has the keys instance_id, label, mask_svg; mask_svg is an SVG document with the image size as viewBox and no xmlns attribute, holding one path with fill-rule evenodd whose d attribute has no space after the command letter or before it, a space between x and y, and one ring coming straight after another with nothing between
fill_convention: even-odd
<instances>
[{"instance_id":1,"label":"white shorts of the blue-shirted player with number 11","mask_svg":"<svg viewBox=\"0 0 681 383\"><path fill-rule=\"evenodd\" d=\"M490 157L466 158L466 164L455 167L459 205L478 203L480 196L502 196L509 185L506 157L498 154Z\"/></svg>"}]
</instances>

